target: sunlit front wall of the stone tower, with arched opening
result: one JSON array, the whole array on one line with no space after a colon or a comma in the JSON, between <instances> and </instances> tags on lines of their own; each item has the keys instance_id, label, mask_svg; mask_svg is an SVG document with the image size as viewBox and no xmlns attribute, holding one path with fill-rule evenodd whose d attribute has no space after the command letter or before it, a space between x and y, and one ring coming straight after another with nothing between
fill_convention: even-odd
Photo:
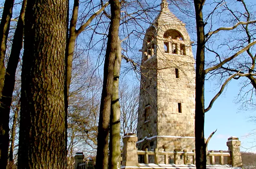
<instances>
[{"instance_id":1,"label":"sunlit front wall of the stone tower, with arched opening","mask_svg":"<svg viewBox=\"0 0 256 169\"><path fill-rule=\"evenodd\" d=\"M162 17L163 18L163 17ZM164 32L172 29L180 32L181 39L164 38ZM159 137L157 148L166 145L174 149L195 149L195 69L190 38L185 26L180 22L166 22L161 14L158 18L158 51L157 51L157 118L158 136L180 136L181 138ZM186 55L164 53L164 41L170 44L184 44ZM168 68L168 69L166 69ZM176 78L175 68L179 70ZM181 113L178 112L181 103Z\"/></svg>"}]
</instances>

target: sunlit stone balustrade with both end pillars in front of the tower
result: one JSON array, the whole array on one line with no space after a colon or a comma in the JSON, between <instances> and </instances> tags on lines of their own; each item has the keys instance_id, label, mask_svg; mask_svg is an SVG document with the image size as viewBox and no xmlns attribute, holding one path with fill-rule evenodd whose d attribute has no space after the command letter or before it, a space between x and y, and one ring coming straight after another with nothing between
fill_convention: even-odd
<instances>
[{"instance_id":1,"label":"sunlit stone balustrade with both end pillars in front of the tower","mask_svg":"<svg viewBox=\"0 0 256 169\"><path fill-rule=\"evenodd\" d=\"M195 165L195 150L193 150L192 152L187 152L187 150L158 151L158 149L155 149L154 151L148 151L148 149L146 148L145 151L138 151L136 148L137 141L138 138L135 134L128 133L123 137L124 149L122 157L122 168L132 168L133 166L136 168L138 166L141 166L141 162L139 163L138 160L139 157L142 157L143 164L148 165L149 156L152 157L150 161L154 161L155 165L160 165L160 162L165 165ZM228 166L241 167L242 159L239 147L240 144L241 142L238 140L237 137L233 136L228 138L228 152L207 151L207 164L229 164ZM170 159L172 159L172 161L169 161Z\"/></svg>"}]
</instances>

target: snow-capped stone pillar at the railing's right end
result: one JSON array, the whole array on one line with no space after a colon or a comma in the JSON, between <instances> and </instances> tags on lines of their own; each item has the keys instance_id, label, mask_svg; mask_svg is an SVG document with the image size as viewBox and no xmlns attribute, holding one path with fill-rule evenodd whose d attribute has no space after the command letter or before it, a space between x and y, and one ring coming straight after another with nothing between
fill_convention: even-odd
<instances>
[{"instance_id":1,"label":"snow-capped stone pillar at the railing's right end","mask_svg":"<svg viewBox=\"0 0 256 169\"><path fill-rule=\"evenodd\" d=\"M228 150L230 150L231 156L231 165L233 167L242 167L242 158L240 153L240 145L241 141L238 140L238 137L231 136L228 138L227 146Z\"/></svg>"}]
</instances>

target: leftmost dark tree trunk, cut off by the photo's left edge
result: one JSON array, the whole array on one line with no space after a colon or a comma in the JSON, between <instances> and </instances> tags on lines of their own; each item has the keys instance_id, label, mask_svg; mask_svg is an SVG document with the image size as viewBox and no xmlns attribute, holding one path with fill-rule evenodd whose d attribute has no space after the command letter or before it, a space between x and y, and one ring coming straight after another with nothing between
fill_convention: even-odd
<instances>
[{"instance_id":1,"label":"leftmost dark tree trunk, cut off by the photo's left edge","mask_svg":"<svg viewBox=\"0 0 256 169\"><path fill-rule=\"evenodd\" d=\"M2 19L0 22L0 97L2 96L2 91L4 87L4 75L5 75L5 66L4 66L4 57L6 52L6 43L7 43L7 37L9 34L10 29L10 23L12 18L12 8L13 8L14 0L5 0L4 2L4 11L2 15ZM2 135L2 129L0 126L0 132ZM1 140L1 138L0 138ZM0 166L1 166L1 145L0 145ZM5 159L5 158L4 158Z\"/></svg>"}]
</instances>

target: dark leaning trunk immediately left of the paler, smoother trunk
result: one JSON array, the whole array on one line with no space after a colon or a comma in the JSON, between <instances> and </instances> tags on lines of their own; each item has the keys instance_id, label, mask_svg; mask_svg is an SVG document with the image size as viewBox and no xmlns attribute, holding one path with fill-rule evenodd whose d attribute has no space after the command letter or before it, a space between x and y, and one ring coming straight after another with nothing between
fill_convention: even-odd
<instances>
[{"instance_id":1,"label":"dark leaning trunk immediately left of the paler, smoother trunk","mask_svg":"<svg viewBox=\"0 0 256 169\"><path fill-rule=\"evenodd\" d=\"M100 117L98 127L98 146L96 156L96 168L108 169L108 134L111 107L111 95L114 79L114 62L120 26L121 3L119 0L109 1L111 8L111 21L108 32L108 43L104 63L103 88L100 102Z\"/></svg>"}]
</instances>

